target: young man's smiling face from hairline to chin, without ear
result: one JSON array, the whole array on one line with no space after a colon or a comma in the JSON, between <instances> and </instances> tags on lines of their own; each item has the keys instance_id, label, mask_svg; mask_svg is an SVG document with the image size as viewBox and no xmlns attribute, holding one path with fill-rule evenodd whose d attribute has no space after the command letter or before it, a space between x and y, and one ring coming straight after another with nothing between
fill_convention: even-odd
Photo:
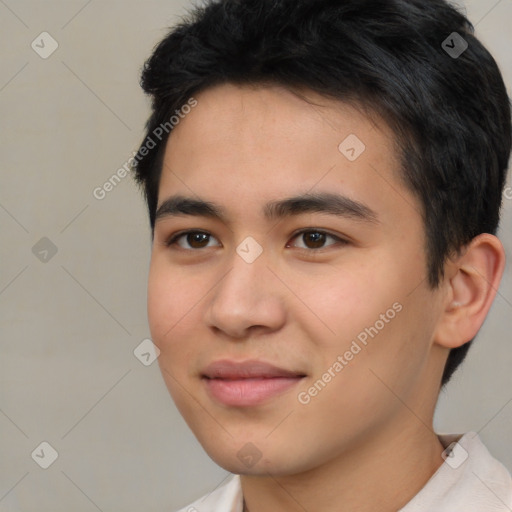
<instances>
[{"instance_id":1,"label":"young man's smiling face from hairline to chin, without ear","mask_svg":"<svg viewBox=\"0 0 512 512\"><path fill-rule=\"evenodd\" d=\"M424 428L437 398L442 300L393 134L308 98L208 89L164 157L151 335L178 409L233 473L327 464Z\"/></svg>"}]
</instances>

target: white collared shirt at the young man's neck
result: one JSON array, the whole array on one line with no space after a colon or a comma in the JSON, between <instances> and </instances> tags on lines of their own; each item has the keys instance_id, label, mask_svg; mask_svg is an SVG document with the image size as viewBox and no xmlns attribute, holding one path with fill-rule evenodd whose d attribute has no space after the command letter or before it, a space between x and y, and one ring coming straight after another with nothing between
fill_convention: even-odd
<instances>
[{"instance_id":1,"label":"white collared shirt at the young man's neck","mask_svg":"<svg viewBox=\"0 0 512 512\"><path fill-rule=\"evenodd\" d=\"M512 512L512 478L475 432L440 435L450 456L398 512ZM458 439L458 442L457 442ZM452 444L454 443L454 444ZM242 512L240 476L178 512Z\"/></svg>"}]
</instances>

